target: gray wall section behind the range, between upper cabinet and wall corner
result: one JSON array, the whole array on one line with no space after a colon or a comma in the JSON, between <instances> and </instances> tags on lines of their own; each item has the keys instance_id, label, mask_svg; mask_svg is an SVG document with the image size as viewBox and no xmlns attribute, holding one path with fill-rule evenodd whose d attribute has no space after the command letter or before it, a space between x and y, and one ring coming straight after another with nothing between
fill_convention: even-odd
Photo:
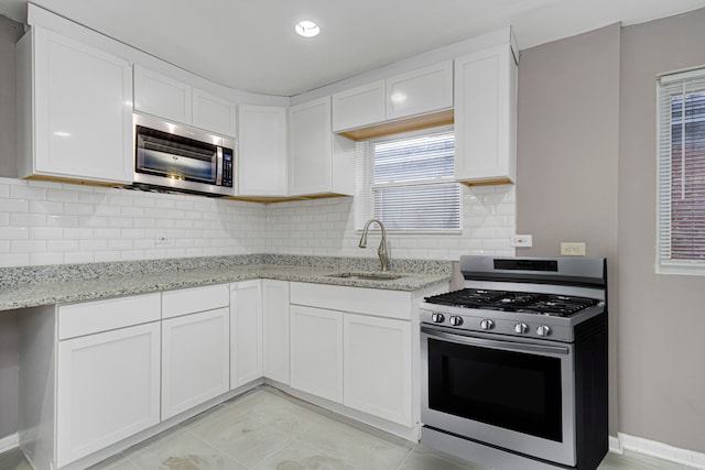
<instances>
[{"instance_id":1,"label":"gray wall section behind the range, between upper cabinet and wall corner","mask_svg":"<svg viewBox=\"0 0 705 470\"><path fill-rule=\"evenodd\" d=\"M557 256L584 241L608 260L610 434L616 435L619 24L521 52L517 123L518 255Z\"/></svg>"}]
</instances>

